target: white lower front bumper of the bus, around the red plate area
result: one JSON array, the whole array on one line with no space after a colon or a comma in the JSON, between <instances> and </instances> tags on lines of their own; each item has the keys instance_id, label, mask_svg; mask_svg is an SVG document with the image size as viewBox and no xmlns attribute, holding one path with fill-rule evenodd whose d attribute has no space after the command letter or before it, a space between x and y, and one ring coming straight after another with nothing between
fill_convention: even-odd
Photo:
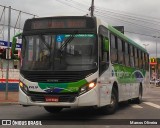
<instances>
[{"instance_id":1,"label":"white lower front bumper of the bus, around the red plate area","mask_svg":"<svg viewBox=\"0 0 160 128\"><path fill-rule=\"evenodd\" d=\"M82 106L99 106L98 93L92 89L80 96L75 97L73 102L46 102L33 101L30 96L27 96L19 89L19 104L26 106L61 106L61 107L82 107Z\"/></svg>"}]
</instances>

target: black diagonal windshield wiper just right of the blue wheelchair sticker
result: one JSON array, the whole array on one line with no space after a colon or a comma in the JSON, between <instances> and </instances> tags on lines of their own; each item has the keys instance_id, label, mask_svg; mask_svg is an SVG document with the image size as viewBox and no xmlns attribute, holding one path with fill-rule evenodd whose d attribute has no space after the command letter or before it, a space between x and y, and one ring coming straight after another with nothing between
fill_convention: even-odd
<instances>
[{"instance_id":1,"label":"black diagonal windshield wiper just right of the blue wheelchair sticker","mask_svg":"<svg viewBox=\"0 0 160 128\"><path fill-rule=\"evenodd\" d=\"M73 34L71 34L66 40L65 42L61 45L61 47L59 48L60 53L62 54L62 51L64 48L67 47L67 45L74 39L75 35L78 33L78 31L75 31Z\"/></svg>"}]
</instances>

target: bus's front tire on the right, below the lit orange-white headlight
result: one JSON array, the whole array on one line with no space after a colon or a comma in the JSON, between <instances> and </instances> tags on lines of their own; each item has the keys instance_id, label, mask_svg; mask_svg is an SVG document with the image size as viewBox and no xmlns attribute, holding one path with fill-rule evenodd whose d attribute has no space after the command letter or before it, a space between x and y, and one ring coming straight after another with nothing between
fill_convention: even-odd
<instances>
[{"instance_id":1,"label":"bus's front tire on the right, below the lit orange-white headlight","mask_svg":"<svg viewBox=\"0 0 160 128\"><path fill-rule=\"evenodd\" d=\"M102 107L102 112L104 114L113 114L118 109L118 92L115 88L112 89L111 103L110 105Z\"/></svg>"}]
</instances>

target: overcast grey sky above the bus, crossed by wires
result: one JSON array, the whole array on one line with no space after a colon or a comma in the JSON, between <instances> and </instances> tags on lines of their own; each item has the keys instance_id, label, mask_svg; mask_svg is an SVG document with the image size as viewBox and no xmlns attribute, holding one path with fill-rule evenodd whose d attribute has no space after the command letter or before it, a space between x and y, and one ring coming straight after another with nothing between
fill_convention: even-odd
<instances>
[{"instance_id":1,"label":"overcast grey sky above the bus, crossed by wires","mask_svg":"<svg viewBox=\"0 0 160 128\"><path fill-rule=\"evenodd\" d=\"M144 47L150 56L160 57L160 0L94 0L95 16L111 25L125 28L125 35ZM91 0L0 0L0 5L38 15L39 17L59 15L86 15ZM0 16L2 13L0 7ZM7 13L7 12L6 12ZM12 24L16 23L18 12L12 12ZM26 18L23 14L21 24ZM13 25L14 26L14 25Z\"/></svg>"}]
</instances>

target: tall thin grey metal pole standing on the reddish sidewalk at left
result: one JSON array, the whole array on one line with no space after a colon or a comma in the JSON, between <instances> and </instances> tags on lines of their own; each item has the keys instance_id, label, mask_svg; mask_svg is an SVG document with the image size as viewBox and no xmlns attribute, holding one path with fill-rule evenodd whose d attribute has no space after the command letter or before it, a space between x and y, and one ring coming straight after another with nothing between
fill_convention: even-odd
<instances>
[{"instance_id":1,"label":"tall thin grey metal pole standing on the reddish sidewalk at left","mask_svg":"<svg viewBox=\"0 0 160 128\"><path fill-rule=\"evenodd\" d=\"M6 93L5 99L8 100L8 76L9 76L9 48L10 48L10 24L11 24L11 6L8 8L8 47L7 47L7 70L6 70Z\"/></svg>"}]
</instances>

